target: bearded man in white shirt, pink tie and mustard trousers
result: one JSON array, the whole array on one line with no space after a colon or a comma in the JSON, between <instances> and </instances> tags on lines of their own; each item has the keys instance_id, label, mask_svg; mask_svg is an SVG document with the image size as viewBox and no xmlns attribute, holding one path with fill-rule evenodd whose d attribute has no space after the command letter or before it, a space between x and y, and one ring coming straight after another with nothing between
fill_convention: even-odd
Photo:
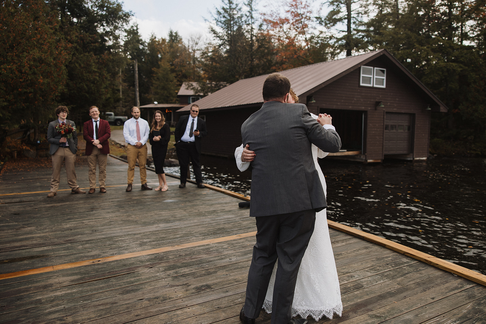
<instances>
[{"instance_id":1,"label":"bearded man in white shirt, pink tie and mustard trousers","mask_svg":"<svg viewBox=\"0 0 486 324\"><path fill-rule=\"evenodd\" d=\"M126 191L132 191L133 178L135 176L135 163L139 159L140 183L142 190L152 190L147 186L147 140L149 138L150 126L147 120L140 118L140 109L132 107L133 118L123 124L123 136L128 146L126 156L128 160L128 178Z\"/></svg>"}]
</instances>

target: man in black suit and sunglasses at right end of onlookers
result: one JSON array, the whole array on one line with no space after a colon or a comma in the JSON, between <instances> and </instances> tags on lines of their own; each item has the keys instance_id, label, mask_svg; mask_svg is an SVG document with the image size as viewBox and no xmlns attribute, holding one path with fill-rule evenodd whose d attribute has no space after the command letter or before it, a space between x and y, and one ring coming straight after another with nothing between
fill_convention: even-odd
<instances>
[{"instance_id":1,"label":"man in black suit and sunglasses at right end of onlookers","mask_svg":"<svg viewBox=\"0 0 486 324\"><path fill-rule=\"evenodd\" d=\"M203 185L203 175L201 173L201 137L208 135L206 121L197 117L199 106L191 106L191 115L183 116L175 125L175 149L179 159L181 184L179 188L186 188L187 171L189 159L192 162L192 171L196 177L197 188L205 188Z\"/></svg>"}]
</instances>

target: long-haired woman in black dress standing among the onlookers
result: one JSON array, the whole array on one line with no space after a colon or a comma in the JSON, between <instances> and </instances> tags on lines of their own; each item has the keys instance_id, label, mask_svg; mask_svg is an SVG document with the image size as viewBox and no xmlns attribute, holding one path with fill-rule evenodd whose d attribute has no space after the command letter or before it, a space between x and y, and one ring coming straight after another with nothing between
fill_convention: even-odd
<instances>
[{"instance_id":1,"label":"long-haired woman in black dress standing among the onlookers","mask_svg":"<svg viewBox=\"0 0 486 324\"><path fill-rule=\"evenodd\" d=\"M165 122L164 115L160 110L157 110L152 120L150 127L149 141L152 145L152 157L154 158L155 173L158 176L159 186L156 191L167 191L167 180L165 179L164 161L167 154L167 146L171 139L171 128Z\"/></svg>"}]
</instances>

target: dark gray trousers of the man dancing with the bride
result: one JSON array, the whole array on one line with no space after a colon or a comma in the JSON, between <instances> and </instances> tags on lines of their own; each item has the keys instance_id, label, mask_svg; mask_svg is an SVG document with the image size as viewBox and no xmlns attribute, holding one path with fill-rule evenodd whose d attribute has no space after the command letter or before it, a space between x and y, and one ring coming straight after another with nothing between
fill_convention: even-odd
<instances>
[{"instance_id":1,"label":"dark gray trousers of the man dancing with the bride","mask_svg":"<svg viewBox=\"0 0 486 324\"><path fill-rule=\"evenodd\" d=\"M248 271L244 314L257 318L265 301L275 262L277 274L272 302L272 324L292 318L295 283L302 257L314 231L315 210L256 217L257 243Z\"/></svg>"}]
</instances>

